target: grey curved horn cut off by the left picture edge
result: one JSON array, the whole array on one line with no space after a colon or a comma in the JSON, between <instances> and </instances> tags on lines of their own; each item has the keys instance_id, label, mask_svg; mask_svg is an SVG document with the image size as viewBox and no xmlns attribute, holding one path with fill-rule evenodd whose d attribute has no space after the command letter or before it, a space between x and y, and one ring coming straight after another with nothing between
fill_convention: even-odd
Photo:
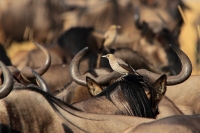
<instances>
[{"instance_id":1,"label":"grey curved horn cut off by the left picture edge","mask_svg":"<svg viewBox=\"0 0 200 133\"><path fill-rule=\"evenodd\" d=\"M2 99L6 97L12 91L12 88L14 85L14 79L9 69L1 61L0 61L0 67L2 69L3 77L4 77L3 84L0 86L0 99Z\"/></svg>"}]
</instances>

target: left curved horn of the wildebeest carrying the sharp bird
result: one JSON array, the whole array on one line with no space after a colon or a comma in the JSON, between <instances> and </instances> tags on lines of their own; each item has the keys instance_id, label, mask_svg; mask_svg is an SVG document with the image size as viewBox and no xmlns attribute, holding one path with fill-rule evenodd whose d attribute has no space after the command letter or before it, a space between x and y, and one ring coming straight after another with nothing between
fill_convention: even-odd
<instances>
[{"instance_id":1,"label":"left curved horn of the wildebeest carrying the sharp bird","mask_svg":"<svg viewBox=\"0 0 200 133\"><path fill-rule=\"evenodd\" d=\"M87 52L88 47L82 49L81 51L79 51L74 58L72 59L71 63L70 63L70 74L72 76L72 79L80 85L84 85L86 86L86 76L83 76L80 74L79 72L79 64L80 64L80 60L81 58L84 56L84 54ZM118 72L113 71L110 74L107 74L105 76L101 76L101 77L97 77L94 78L94 80L99 83L100 85L104 85L107 84L108 82L112 81L113 79L119 78L121 76L121 74L119 74Z\"/></svg>"}]
</instances>

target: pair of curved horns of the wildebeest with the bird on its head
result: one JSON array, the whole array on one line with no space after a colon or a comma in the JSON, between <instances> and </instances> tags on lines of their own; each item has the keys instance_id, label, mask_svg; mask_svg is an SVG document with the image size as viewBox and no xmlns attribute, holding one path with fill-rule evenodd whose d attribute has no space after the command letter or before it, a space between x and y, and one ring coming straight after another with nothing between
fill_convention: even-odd
<instances>
[{"instance_id":1,"label":"pair of curved horns of the wildebeest with the bird on its head","mask_svg":"<svg viewBox=\"0 0 200 133\"><path fill-rule=\"evenodd\" d=\"M170 47L176 52L178 55L181 64L182 64L182 70L181 72L176 76L167 76L167 85L176 85L184 82L187 80L192 72L192 64L190 62L190 59L188 56L180 50L178 47L170 45ZM70 74L72 76L72 79L80 85L86 86L86 77L82 76L79 72L79 64L80 60L83 57L83 55L87 52L87 47L82 49L80 52L78 52L70 64ZM152 81L156 81L161 75L150 72L146 69L138 69L136 70L140 75L148 77ZM104 75L103 77L97 77L94 80L99 83L100 85L107 84L110 80L119 78L121 74L113 71L112 73L108 75Z\"/></svg>"}]
</instances>

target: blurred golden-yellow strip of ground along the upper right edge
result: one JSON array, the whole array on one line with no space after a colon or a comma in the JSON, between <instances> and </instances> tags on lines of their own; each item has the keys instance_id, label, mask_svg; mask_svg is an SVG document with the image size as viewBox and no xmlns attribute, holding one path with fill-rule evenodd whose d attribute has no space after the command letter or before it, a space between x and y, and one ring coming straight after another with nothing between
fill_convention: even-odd
<instances>
[{"instance_id":1,"label":"blurred golden-yellow strip of ground along the upper right edge","mask_svg":"<svg viewBox=\"0 0 200 133\"><path fill-rule=\"evenodd\" d=\"M180 48L189 56L193 64L193 75L200 74L200 0L184 0L189 9L184 10L186 22L179 35Z\"/></svg>"}]
</instances>

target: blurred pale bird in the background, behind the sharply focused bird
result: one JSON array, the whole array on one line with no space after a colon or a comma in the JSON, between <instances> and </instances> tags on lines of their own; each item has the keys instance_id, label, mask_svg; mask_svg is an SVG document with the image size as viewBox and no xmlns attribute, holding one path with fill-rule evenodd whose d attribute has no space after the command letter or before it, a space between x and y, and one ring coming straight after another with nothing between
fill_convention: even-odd
<instances>
[{"instance_id":1,"label":"blurred pale bird in the background, behind the sharply focused bird","mask_svg":"<svg viewBox=\"0 0 200 133\"><path fill-rule=\"evenodd\" d=\"M117 38L117 29L121 28L119 25L111 25L108 30L104 33L104 47L110 47Z\"/></svg>"}]
</instances>

